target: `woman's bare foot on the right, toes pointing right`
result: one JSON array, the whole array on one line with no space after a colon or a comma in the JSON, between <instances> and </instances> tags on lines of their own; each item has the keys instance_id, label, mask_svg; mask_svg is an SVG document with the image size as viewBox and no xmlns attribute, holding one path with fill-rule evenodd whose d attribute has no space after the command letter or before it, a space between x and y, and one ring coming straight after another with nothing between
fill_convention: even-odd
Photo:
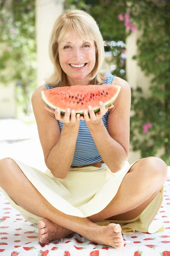
<instances>
[{"instance_id":1,"label":"woman's bare foot on the right, toes pointing right","mask_svg":"<svg viewBox=\"0 0 170 256\"><path fill-rule=\"evenodd\" d=\"M111 223L108 226L92 228L85 237L98 244L109 245L116 249L122 249L124 247L124 241L121 231L122 228L119 224Z\"/></svg>"}]
</instances>

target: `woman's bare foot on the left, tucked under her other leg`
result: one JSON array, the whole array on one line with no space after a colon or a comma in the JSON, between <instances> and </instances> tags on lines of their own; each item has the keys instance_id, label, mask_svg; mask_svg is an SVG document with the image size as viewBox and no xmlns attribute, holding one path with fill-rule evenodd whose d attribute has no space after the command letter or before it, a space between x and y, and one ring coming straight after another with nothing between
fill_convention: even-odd
<instances>
[{"instance_id":1,"label":"woman's bare foot on the left, tucked under her other leg","mask_svg":"<svg viewBox=\"0 0 170 256\"><path fill-rule=\"evenodd\" d=\"M65 238L74 233L71 230L60 227L46 218L38 221L37 227L39 230L38 239L40 244L48 244L51 241Z\"/></svg>"}]
</instances>

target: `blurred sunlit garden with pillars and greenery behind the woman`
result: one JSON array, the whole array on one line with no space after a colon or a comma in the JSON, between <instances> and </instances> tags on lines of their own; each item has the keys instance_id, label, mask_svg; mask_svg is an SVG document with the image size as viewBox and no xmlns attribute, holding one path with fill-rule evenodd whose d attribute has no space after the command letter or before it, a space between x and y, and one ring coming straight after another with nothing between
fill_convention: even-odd
<instances>
[{"instance_id":1,"label":"blurred sunlit garden with pillars and greenery behind the woman","mask_svg":"<svg viewBox=\"0 0 170 256\"><path fill-rule=\"evenodd\" d=\"M46 169L31 95L52 72L48 41L65 9L82 9L102 32L106 72L132 93L129 163L170 166L169 0L0 0L0 159Z\"/></svg>"}]
</instances>

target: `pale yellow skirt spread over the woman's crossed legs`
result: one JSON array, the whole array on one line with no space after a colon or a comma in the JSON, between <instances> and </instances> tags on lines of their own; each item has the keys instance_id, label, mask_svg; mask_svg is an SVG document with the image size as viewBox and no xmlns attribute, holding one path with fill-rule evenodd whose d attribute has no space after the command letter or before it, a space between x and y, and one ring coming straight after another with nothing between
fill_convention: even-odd
<instances>
[{"instance_id":1,"label":"pale yellow skirt spread over the woman's crossed legs","mask_svg":"<svg viewBox=\"0 0 170 256\"><path fill-rule=\"evenodd\" d=\"M131 165L126 161L122 170L116 173L112 173L105 163L102 163L101 167L71 167L67 177L60 179L54 177L49 169L44 173L19 160L14 158L13 160L53 207L65 214L80 218L101 212L116 195L130 167L139 161L136 160ZM37 223L42 219L20 207L2 188L0 189L12 207L17 209L27 221ZM148 233L164 231L162 223L153 220L163 201L163 189L164 186L137 218L130 221L103 220L96 224L107 226L110 223L119 223L123 234L133 234L135 230Z\"/></svg>"}]
</instances>

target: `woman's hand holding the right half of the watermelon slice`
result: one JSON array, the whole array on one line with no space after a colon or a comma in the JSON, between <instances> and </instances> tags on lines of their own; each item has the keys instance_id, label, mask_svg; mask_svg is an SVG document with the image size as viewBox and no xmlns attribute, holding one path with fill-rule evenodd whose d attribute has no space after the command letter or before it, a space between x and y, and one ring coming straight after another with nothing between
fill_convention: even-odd
<instances>
[{"instance_id":1,"label":"woman's hand holding the right half of the watermelon slice","mask_svg":"<svg viewBox=\"0 0 170 256\"><path fill-rule=\"evenodd\" d=\"M88 110L84 111L84 116L80 116L80 120L85 120L85 122L88 125L96 125L101 121L102 116L105 115L105 113L108 111L108 108L114 108L114 106L111 104L109 107L105 108L105 105L102 102L102 105L100 105L100 111L94 113L93 108L91 107L91 109L89 108L91 106L88 106ZM90 116L88 115L88 112L90 114Z\"/></svg>"}]
</instances>

